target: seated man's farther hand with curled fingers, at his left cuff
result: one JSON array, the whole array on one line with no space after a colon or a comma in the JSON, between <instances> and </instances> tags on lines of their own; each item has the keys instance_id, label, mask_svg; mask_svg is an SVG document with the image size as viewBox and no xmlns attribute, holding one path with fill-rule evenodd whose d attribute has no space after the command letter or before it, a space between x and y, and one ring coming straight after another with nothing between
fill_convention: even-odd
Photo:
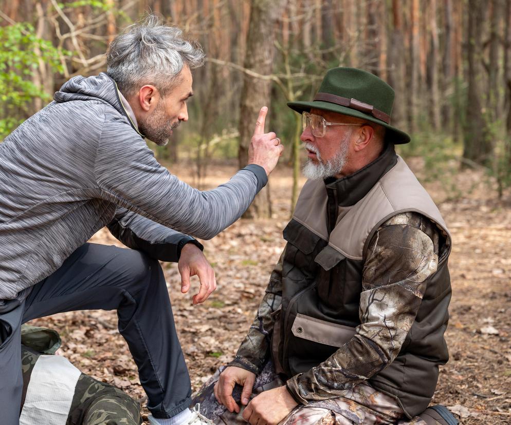
<instances>
[{"instance_id":1,"label":"seated man's farther hand with curled fingers, at his left cuff","mask_svg":"<svg viewBox=\"0 0 511 425\"><path fill-rule=\"evenodd\" d=\"M216 381L213 389L216 400L223 404L229 412L235 411L240 413L240 407L232 398L232 390L234 384L243 385L241 393L241 402L248 404L250 394L252 394L252 387L255 382L255 374L236 366L227 366L220 374L220 379Z\"/></svg>"}]
</instances>

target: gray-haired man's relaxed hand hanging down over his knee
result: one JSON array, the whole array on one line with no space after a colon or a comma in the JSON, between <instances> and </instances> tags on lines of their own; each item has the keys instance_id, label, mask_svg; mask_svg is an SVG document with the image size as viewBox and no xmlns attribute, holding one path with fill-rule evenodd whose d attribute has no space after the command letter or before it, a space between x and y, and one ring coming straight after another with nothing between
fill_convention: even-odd
<instances>
[{"instance_id":1,"label":"gray-haired man's relaxed hand hanging down over his knee","mask_svg":"<svg viewBox=\"0 0 511 425\"><path fill-rule=\"evenodd\" d=\"M216 289L215 271L203 252L193 243L187 243L182 247L177 269L181 274L181 292L183 294L190 289L190 277L198 276L199 278L199 292L192 298L194 304L206 301Z\"/></svg>"}]
</instances>

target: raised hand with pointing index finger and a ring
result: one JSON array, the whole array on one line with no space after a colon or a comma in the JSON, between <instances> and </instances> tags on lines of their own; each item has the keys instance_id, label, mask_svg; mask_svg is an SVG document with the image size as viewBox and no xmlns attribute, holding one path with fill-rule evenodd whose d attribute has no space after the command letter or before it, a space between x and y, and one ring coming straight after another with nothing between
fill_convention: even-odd
<instances>
[{"instance_id":1,"label":"raised hand with pointing index finger and a ring","mask_svg":"<svg viewBox=\"0 0 511 425\"><path fill-rule=\"evenodd\" d=\"M259 112L257 122L255 122L254 134L248 148L248 163L260 165L268 176L277 165L284 146L280 143L277 134L272 131L269 133L264 132L264 120L266 119L267 112L268 108L263 106Z\"/></svg>"}]
</instances>

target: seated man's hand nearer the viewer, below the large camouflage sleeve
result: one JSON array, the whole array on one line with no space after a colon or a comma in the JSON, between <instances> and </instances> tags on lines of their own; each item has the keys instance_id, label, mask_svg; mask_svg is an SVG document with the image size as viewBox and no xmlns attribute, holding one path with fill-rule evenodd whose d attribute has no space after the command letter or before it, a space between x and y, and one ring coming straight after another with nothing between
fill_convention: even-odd
<instances>
[{"instance_id":1,"label":"seated man's hand nearer the viewer, below the large camouflage sleeve","mask_svg":"<svg viewBox=\"0 0 511 425\"><path fill-rule=\"evenodd\" d=\"M297 405L284 385L254 397L243 411L243 419L252 425L276 425Z\"/></svg>"}]
</instances>

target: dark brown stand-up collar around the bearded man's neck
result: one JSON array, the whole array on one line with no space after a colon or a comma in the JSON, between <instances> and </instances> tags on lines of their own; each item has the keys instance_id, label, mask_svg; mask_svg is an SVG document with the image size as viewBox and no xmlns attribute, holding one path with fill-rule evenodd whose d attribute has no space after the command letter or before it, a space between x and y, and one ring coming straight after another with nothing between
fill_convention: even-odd
<instances>
[{"instance_id":1,"label":"dark brown stand-up collar around the bearded man's neck","mask_svg":"<svg viewBox=\"0 0 511 425\"><path fill-rule=\"evenodd\" d=\"M380 156L349 176L335 180L325 179L327 191L335 191L337 204L341 207L355 205L397 163L394 144L388 143Z\"/></svg>"}]
</instances>

